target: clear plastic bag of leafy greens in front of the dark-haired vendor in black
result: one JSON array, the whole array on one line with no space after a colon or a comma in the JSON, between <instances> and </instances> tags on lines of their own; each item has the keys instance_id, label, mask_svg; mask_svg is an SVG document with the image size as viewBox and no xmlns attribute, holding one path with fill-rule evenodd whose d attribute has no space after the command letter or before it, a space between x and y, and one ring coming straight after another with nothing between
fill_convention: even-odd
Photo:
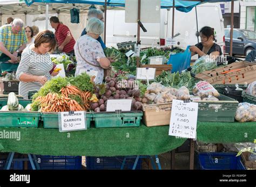
<instances>
[{"instance_id":1,"label":"clear plastic bag of leafy greens in front of the dark-haired vendor in black","mask_svg":"<svg viewBox=\"0 0 256 187\"><path fill-rule=\"evenodd\" d=\"M191 69L192 74L199 74L199 73L202 73L203 71L217 68L217 62L211 59L209 55L206 55L206 56L200 57L191 68L192 68Z\"/></svg>"}]
</instances>

